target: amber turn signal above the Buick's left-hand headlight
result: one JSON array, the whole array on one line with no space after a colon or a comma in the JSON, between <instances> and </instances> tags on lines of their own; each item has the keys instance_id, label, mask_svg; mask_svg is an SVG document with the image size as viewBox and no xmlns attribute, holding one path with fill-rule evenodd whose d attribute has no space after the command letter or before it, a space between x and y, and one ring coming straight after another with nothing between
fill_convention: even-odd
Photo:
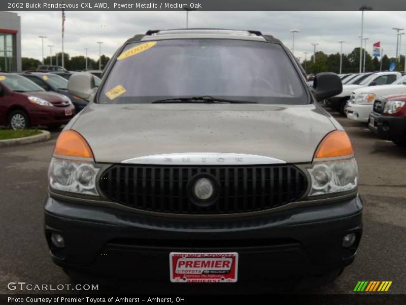
<instances>
[{"instance_id":1,"label":"amber turn signal above the Buick's left-hand headlight","mask_svg":"<svg viewBox=\"0 0 406 305\"><path fill-rule=\"evenodd\" d=\"M76 131L62 131L56 140L55 155L93 158L92 150L86 140Z\"/></svg>"}]
</instances>

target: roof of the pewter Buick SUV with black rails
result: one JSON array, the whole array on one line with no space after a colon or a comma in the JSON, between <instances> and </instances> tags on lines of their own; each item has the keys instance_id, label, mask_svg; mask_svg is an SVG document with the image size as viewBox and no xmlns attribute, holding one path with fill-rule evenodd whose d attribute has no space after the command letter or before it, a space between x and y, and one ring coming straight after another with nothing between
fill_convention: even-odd
<instances>
[{"instance_id":1,"label":"roof of the pewter Buick SUV with black rails","mask_svg":"<svg viewBox=\"0 0 406 305\"><path fill-rule=\"evenodd\" d=\"M266 37L265 37L266 36ZM163 39L238 39L251 41L269 41L270 39L279 42L271 35L262 35L259 31L243 31L239 29L221 29L221 28L179 28L179 29L160 29L149 30L142 38L139 35L129 39L133 41L151 41Z\"/></svg>"}]
</instances>

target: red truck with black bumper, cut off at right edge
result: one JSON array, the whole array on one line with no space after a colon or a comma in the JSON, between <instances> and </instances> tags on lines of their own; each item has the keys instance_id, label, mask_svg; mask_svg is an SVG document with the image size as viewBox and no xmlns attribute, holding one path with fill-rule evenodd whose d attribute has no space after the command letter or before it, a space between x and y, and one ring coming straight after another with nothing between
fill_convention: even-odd
<instances>
[{"instance_id":1,"label":"red truck with black bumper, cut off at right edge","mask_svg":"<svg viewBox=\"0 0 406 305\"><path fill-rule=\"evenodd\" d=\"M378 137L406 147L406 94L378 98L368 126Z\"/></svg>"}]
</instances>

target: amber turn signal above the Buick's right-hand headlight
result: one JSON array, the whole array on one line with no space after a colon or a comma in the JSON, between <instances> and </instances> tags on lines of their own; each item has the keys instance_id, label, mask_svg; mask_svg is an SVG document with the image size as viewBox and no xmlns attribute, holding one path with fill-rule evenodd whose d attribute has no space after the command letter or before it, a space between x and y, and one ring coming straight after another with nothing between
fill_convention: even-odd
<instances>
[{"instance_id":1,"label":"amber turn signal above the Buick's right-hand headlight","mask_svg":"<svg viewBox=\"0 0 406 305\"><path fill-rule=\"evenodd\" d=\"M350 138L342 130L327 134L317 147L315 158L341 157L354 154Z\"/></svg>"}]
</instances>

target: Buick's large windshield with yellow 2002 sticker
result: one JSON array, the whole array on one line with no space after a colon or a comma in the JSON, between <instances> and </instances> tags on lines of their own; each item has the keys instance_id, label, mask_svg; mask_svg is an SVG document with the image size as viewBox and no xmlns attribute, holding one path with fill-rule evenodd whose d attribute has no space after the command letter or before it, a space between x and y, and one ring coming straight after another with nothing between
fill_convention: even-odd
<instances>
[{"instance_id":1,"label":"Buick's large windshield with yellow 2002 sticker","mask_svg":"<svg viewBox=\"0 0 406 305\"><path fill-rule=\"evenodd\" d=\"M100 90L99 103L152 103L199 96L308 103L304 85L280 45L224 39L127 45Z\"/></svg>"}]
</instances>

